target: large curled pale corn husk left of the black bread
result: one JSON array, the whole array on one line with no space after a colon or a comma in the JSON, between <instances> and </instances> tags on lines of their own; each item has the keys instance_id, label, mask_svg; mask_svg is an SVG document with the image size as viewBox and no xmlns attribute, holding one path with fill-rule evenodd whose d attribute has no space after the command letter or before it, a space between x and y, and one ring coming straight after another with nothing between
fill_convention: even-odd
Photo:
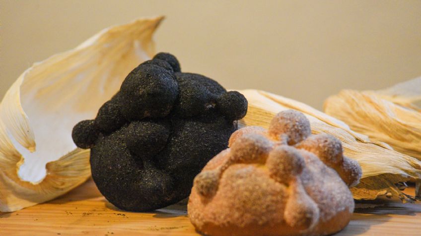
<instances>
[{"instance_id":1,"label":"large curled pale corn husk left of the black bread","mask_svg":"<svg viewBox=\"0 0 421 236\"><path fill-rule=\"evenodd\" d=\"M0 211L53 199L90 176L72 127L91 119L126 75L154 54L162 17L107 28L27 69L0 104Z\"/></svg>"}]
</instances>

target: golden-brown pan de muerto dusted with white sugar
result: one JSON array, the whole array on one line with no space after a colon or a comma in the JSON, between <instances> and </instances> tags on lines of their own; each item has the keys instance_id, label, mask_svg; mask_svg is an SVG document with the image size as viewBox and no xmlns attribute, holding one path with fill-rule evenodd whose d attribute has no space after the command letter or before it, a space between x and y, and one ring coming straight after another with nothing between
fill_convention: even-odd
<instances>
[{"instance_id":1,"label":"golden-brown pan de muerto dusted with white sugar","mask_svg":"<svg viewBox=\"0 0 421 236\"><path fill-rule=\"evenodd\" d=\"M311 135L300 112L283 111L268 130L245 127L195 178L189 217L209 236L324 236L345 228L349 187L361 177L327 134Z\"/></svg>"}]
</instances>

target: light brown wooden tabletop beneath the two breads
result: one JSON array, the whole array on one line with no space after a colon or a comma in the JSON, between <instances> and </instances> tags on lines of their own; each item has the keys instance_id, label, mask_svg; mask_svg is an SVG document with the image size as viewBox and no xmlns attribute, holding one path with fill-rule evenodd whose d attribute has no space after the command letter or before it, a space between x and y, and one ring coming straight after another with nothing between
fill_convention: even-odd
<instances>
[{"instance_id":1,"label":"light brown wooden tabletop beneath the two breads","mask_svg":"<svg viewBox=\"0 0 421 236\"><path fill-rule=\"evenodd\" d=\"M408 189L414 191L414 189ZM421 236L421 203L386 201L357 204L345 230L336 236ZM0 236L197 236L186 207L151 213L115 208L92 181L53 201L13 213L0 213Z\"/></svg>"}]
</instances>

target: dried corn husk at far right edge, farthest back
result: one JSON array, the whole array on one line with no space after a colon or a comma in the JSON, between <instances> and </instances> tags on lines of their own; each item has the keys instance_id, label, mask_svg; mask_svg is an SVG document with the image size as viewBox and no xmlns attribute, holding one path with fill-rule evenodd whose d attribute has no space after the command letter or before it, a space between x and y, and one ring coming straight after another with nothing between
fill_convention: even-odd
<instances>
[{"instance_id":1,"label":"dried corn husk at far right edge, farthest back","mask_svg":"<svg viewBox=\"0 0 421 236\"><path fill-rule=\"evenodd\" d=\"M421 160L421 77L381 91L343 90L330 96L325 112L371 140Z\"/></svg>"}]
</instances>

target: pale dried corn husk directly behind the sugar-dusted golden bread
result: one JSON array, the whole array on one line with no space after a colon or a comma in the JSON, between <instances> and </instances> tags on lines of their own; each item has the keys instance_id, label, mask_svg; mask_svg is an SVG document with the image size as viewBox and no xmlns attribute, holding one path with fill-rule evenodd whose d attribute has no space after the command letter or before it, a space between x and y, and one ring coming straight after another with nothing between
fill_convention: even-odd
<instances>
[{"instance_id":1,"label":"pale dried corn husk directly behind the sugar-dusted golden bread","mask_svg":"<svg viewBox=\"0 0 421 236\"><path fill-rule=\"evenodd\" d=\"M396 196L403 201L413 197L401 192L395 184L421 178L421 161L393 150L384 142L374 142L351 131L347 124L304 103L263 91L244 90L249 102L248 112L241 126L268 128L273 116L286 109L303 112L311 123L313 134L328 133L343 143L344 154L358 161L362 168L360 184L352 188L355 199L375 199ZM417 193L419 186L417 187Z\"/></svg>"}]
</instances>

